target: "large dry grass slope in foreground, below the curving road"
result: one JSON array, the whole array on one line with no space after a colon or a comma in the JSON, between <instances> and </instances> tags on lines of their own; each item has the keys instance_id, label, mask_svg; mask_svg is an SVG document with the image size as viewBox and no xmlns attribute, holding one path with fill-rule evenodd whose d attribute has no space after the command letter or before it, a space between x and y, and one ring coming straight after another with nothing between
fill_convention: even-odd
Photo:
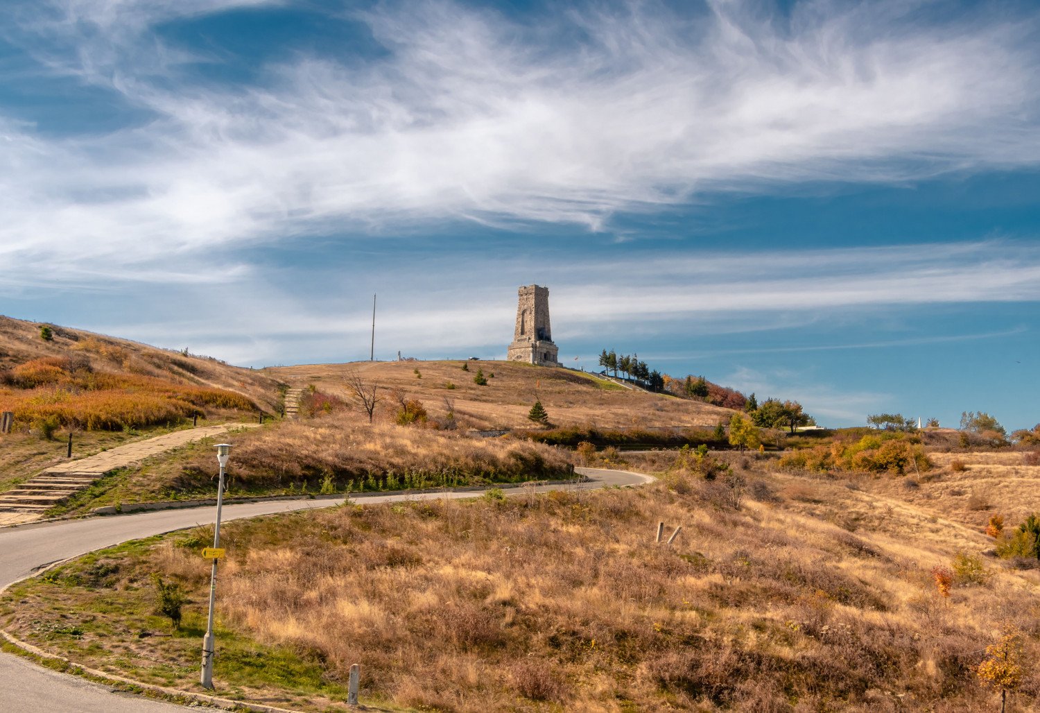
<instances>
[{"instance_id":1,"label":"large dry grass slope in foreground, below the curving road","mask_svg":"<svg viewBox=\"0 0 1040 713\"><path fill-rule=\"evenodd\" d=\"M850 483L771 475L768 462L749 460L749 490L791 498L739 510L712 507L703 482L680 477L672 488L232 523L218 608L258 647L318 662L329 686L361 663L370 696L426 710L991 708L998 696L974 667L1005 620L1036 655L1037 572L987 559L987 584L955 583L944 599L932 567L978 554L988 538ZM683 527L672 548L653 542L657 521ZM136 635L121 633L122 610L104 597L115 589L137 602L158 570L189 589L198 619L208 567L197 549L209 536L199 529L138 560L105 558L104 592L77 584L82 575L24 585L7 626L87 663L125 666L119 652ZM70 595L80 611L62 608ZM80 617L111 634L48 640L40 622L55 611L63 626ZM196 654L185 646L135 665L191 686ZM238 685L219 659L217 672ZM1038 691L1030 672L1012 710L1030 709Z\"/></svg>"}]
</instances>

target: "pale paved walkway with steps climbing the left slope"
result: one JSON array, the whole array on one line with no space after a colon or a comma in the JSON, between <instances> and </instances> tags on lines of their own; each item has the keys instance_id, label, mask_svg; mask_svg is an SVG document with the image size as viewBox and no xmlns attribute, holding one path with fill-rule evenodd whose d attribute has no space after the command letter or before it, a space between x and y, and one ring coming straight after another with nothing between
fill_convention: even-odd
<instances>
[{"instance_id":1,"label":"pale paved walkway with steps climbing the left slope","mask_svg":"<svg viewBox=\"0 0 1040 713\"><path fill-rule=\"evenodd\" d=\"M0 493L0 526L31 523L73 493L88 487L114 468L132 465L151 456L235 428L255 428L258 424L222 424L175 431L155 438L138 440L68 463L52 465L18 487Z\"/></svg>"}]
</instances>

